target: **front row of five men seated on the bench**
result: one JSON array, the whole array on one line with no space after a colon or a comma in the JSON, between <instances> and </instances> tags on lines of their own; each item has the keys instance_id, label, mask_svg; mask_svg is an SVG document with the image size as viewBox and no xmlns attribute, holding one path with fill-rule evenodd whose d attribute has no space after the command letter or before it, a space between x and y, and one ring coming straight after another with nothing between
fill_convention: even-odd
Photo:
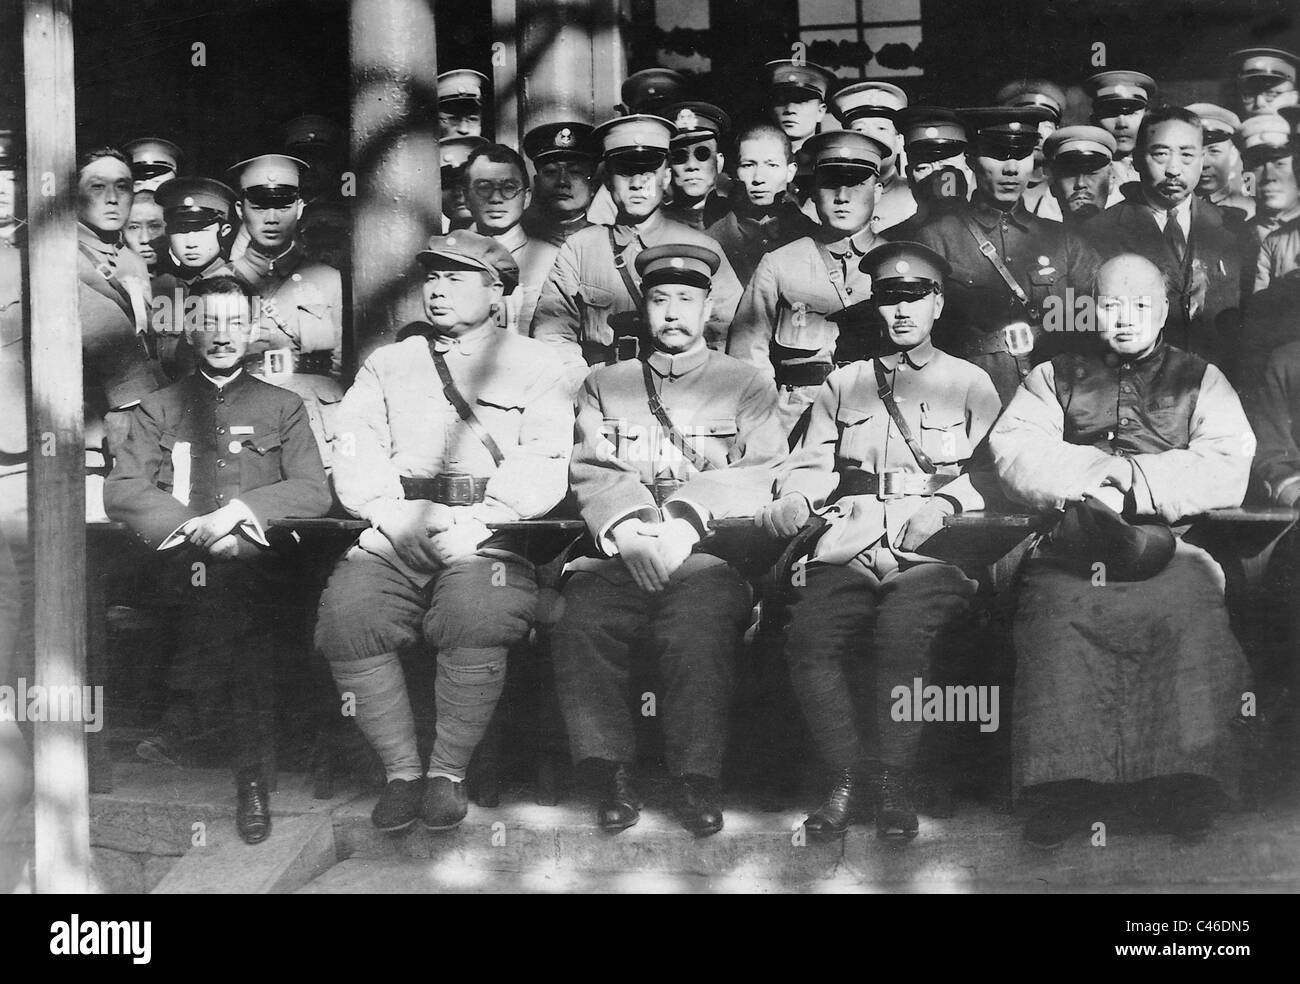
<instances>
[{"instance_id":1,"label":"front row of five men seated on the bench","mask_svg":"<svg viewBox=\"0 0 1300 984\"><path fill-rule=\"evenodd\" d=\"M923 721L898 719L896 690L931 675L976 586L927 543L945 516L1001 494L1065 513L1026 567L1015 625L1017 788L1058 793L1026 835L1056 844L1087 829L1110 809L1102 793L1121 789L1152 823L1196 837L1236 792L1248 669L1218 567L1171 525L1240 503L1251 426L1223 374L1164 339L1150 261L1101 265L1100 334L1037 365L1004 409L987 372L931 341L948 261L918 243L872 248L858 266L885 344L827 377L788 450L771 377L706 343L716 252L638 253L646 348L586 376L576 421L563 363L497 324L519 276L508 251L459 231L417 259L426 324L370 355L339 406L334 487L370 525L334 568L315 640L384 763L378 828L465 816L469 758L507 653L538 623L537 567L554 554L508 524L550 515L569 490L589 541L549 630L572 755L601 776L608 831L641 809L628 688L646 656L663 681L676 815L698 836L723 827L754 564L789 541L789 577L764 604L786 610L794 693L835 773L806 829L833 836L874 816L884 837L915 836ZM105 506L146 545L174 547L182 572L195 551L234 562L211 564L208 585L244 599L226 624L247 672L264 675L256 640L282 563L272 520L322 515L329 486L300 400L240 369L243 287L214 277L195 296L203 364L133 412ZM749 532L715 533L728 517ZM198 603L213 597L226 598ZM412 651L437 660L428 760L400 660ZM238 824L257 841L270 825L256 764L266 731L237 732Z\"/></svg>"}]
</instances>

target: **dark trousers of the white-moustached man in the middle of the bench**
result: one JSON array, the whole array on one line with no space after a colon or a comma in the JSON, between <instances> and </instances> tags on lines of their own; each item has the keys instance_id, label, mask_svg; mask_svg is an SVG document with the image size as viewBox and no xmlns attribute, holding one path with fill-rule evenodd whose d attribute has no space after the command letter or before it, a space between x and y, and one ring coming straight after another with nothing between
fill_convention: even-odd
<instances>
[{"instance_id":1,"label":"dark trousers of the white-moustached man in the middle of the bench","mask_svg":"<svg viewBox=\"0 0 1300 984\"><path fill-rule=\"evenodd\" d=\"M575 763L636 758L633 714L649 705L629 693L632 659L649 651L663 679L654 710L663 721L670 771L716 779L733 663L750 612L745 580L719 558L693 554L668 586L651 595L614 559L576 572L564 585L563 602L551 647Z\"/></svg>"}]
</instances>

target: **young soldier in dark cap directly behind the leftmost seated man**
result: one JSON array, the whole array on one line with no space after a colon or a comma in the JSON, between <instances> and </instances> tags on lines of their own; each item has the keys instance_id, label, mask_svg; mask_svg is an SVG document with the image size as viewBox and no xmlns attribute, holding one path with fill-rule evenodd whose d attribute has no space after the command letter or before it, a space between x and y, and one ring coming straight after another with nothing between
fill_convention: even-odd
<instances>
[{"instance_id":1,"label":"young soldier in dark cap directly behind the leftmost seated man","mask_svg":"<svg viewBox=\"0 0 1300 984\"><path fill-rule=\"evenodd\" d=\"M230 242L235 192L212 178L173 178L157 190L166 222L168 256L153 278L150 321L159 335L159 359L172 380L196 365L183 342L186 300L200 279L231 273L222 255Z\"/></svg>"}]
</instances>

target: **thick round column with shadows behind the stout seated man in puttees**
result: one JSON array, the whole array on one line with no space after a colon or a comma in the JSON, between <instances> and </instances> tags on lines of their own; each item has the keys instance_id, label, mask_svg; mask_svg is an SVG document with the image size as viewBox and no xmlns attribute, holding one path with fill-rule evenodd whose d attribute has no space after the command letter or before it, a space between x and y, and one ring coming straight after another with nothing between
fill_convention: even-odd
<instances>
[{"instance_id":1,"label":"thick round column with shadows behind the stout seated man in puttees","mask_svg":"<svg viewBox=\"0 0 1300 984\"><path fill-rule=\"evenodd\" d=\"M356 357L421 315L416 251L442 227L430 0L352 0Z\"/></svg>"}]
</instances>

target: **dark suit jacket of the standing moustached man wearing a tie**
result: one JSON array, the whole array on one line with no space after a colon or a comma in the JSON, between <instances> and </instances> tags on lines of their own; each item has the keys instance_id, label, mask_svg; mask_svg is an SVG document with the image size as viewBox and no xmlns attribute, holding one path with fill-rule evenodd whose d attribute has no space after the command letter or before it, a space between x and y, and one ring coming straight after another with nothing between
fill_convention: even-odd
<instances>
[{"instance_id":1,"label":"dark suit jacket of the standing moustached man wearing a tie","mask_svg":"<svg viewBox=\"0 0 1300 984\"><path fill-rule=\"evenodd\" d=\"M1235 211L1190 198L1191 231L1179 264L1157 225L1141 188L1130 187L1084 226L1105 260L1121 252L1145 256L1174 285L1169 292L1169 344L1226 367L1240 330L1243 227ZM1078 287L1076 287L1078 289Z\"/></svg>"}]
</instances>

